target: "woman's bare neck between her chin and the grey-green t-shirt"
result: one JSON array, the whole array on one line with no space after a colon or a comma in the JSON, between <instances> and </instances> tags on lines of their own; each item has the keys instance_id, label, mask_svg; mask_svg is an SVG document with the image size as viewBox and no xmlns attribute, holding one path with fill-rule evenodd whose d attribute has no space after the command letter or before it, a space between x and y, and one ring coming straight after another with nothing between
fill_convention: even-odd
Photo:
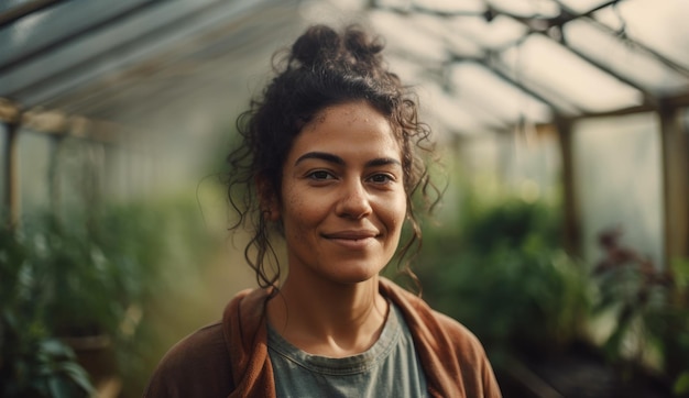
<instances>
[{"instance_id":1,"label":"woman's bare neck between her chin and the grey-green t-shirt","mask_svg":"<svg viewBox=\"0 0 689 398\"><path fill-rule=\"evenodd\" d=\"M358 284L310 284L307 289L287 277L269 302L269 321L285 340L310 354L359 354L378 341L385 324L387 302L378 283L375 276Z\"/></svg>"}]
</instances>

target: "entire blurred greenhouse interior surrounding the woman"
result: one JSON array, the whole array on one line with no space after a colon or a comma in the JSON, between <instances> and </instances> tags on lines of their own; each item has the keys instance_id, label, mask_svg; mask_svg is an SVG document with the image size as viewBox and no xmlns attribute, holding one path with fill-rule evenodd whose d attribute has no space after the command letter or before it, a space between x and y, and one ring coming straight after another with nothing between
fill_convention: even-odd
<instances>
[{"instance_id":1,"label":"entire blurred greenhouse interior surrounding the woman","mask_svg":"<svg viewBox=\"0 0 689 398\"><path fill-rule=\"evenodd\" d=\"M139 397L172 344L256 285L228 233L234 120L276 49L352 22L384 37L441 153L423 297L481 339L505 397L689 396L687 15L3 0L0 396Z\"/></svg>"}]
</instances>

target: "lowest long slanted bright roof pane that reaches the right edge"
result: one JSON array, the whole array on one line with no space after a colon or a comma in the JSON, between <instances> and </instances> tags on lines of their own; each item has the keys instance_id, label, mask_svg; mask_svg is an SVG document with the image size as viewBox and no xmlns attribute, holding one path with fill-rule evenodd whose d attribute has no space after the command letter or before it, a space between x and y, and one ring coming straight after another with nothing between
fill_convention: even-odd
<instances>
[{"instance_id":1,"label":"lowest long slanted bright roof pane that reaches the right edge","mask_svg":"<svg viewBox=\"0 0 689 398\"><path fill-rule=\"evenodd\" d=\"M603 32L588 20L572 21L564 30L566 41L591 59L655 93L675 93L689 89L689 79L653 56Z\"/></svg>"}]
</instances>

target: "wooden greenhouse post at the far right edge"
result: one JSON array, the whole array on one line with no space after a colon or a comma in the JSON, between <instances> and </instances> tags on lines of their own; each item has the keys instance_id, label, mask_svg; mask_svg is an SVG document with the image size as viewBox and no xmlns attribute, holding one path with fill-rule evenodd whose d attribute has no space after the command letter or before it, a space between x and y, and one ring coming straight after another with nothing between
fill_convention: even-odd
<instances>
[{"instance_id":1,"label":"wooden greenhouse post at the far right edge","mask_svg":"<svg viewBox=\"0 0 689 398\"><path fill-rule=\"evenodd\" d=\"M689 256L689 140L676 107L660 107L665 264Z\"/></svg>"}]
</instances>

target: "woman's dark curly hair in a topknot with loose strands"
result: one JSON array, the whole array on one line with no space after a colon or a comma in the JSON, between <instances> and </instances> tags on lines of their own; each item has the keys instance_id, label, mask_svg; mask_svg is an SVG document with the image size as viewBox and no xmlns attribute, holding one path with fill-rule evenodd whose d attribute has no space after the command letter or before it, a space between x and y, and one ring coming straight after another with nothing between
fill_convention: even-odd
<instances>
[{"instance_id":1,"label":"woman's dark curly hair in a topknot with loose strands","mask_svg":"<svg viewBox=\"0 0 689 398\"><path fill-rule=\"evenodd\" d=\"M430 209L440 192L430 181L422 156L433 151L430 129L418 120L414 93L387 69L383 47L380 37L358 25L341 33L326 25L311 26L286 54L274 55L275 76L237 119L239 145L227 161L228 198L239 218L230 229L243 226L252 234L244 257L261 287L275 285L281 277L270 239L281 232L281 225L266 221L262 204L266 197L281 199L282 168L295 137L320 110L362 100L390 121L402 150L411 233L397 252L397 266L416 279L407 257L420 248L422 232L412 198L420 192L422 203ZM431 192L438 194L435 199ZM274 269L270 272L270 267Z\"/></svg>"}]
</instances>

